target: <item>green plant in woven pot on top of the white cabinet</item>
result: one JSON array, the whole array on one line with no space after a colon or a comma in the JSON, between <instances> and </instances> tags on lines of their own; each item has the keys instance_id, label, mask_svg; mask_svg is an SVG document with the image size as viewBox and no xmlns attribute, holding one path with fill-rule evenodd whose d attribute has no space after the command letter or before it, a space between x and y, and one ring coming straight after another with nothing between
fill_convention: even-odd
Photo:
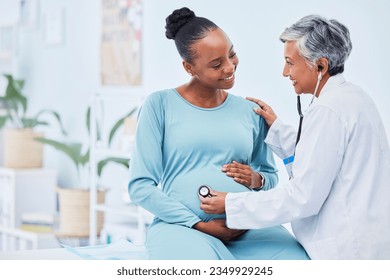
<instances>
[{"instance_id":1,"label":"green plant in woven pot on top of the white cabinet","mask_svg":"<svg viewBox=\"0 0 390 280\"><path fill-rule=\"evenodd\" d=\"M58 122L63 135L66 135L60 115L48 109L39 111L34 116L28 116L28 99L22 93L24 80L14 79L12 75L4 74L7 87L0 103L4 107L0 116L0 129L4 128L4 166L9 168L41 168L43 162L43 145L35 141L43 137L38 132L38 126L47 126L45 116L50 115Z\"/></svg>"}]
</instances>

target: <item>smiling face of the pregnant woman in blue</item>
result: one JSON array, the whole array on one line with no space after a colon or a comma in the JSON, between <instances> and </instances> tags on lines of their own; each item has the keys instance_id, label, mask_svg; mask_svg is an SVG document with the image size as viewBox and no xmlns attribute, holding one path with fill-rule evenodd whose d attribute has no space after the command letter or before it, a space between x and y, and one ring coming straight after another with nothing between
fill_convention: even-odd
<instances>
[{"instance_id":1,"label":"smiling face of the pregnant woman in blue","mask_svg":"<svg viewBox=\"0 0 390 280\"><path fill-rule=\"evenodd\" d=\"M238 57L226 34L219 28L192 46L195 58L192 64L184 67L193 73L196 79L207 88L230 89L234 85L234 73Z\"/></svg>"}]
</instances>

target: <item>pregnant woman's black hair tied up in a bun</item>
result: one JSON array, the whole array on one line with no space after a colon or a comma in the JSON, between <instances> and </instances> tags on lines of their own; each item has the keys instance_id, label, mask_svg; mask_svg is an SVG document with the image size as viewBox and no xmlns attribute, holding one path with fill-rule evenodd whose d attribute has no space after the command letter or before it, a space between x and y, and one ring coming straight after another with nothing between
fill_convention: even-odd
<instances>
[{"instance_id":1,"label":"pregnant woman's black hair tied up in a bun","mask_svg":"<svg viewBox=\"0 0 390 280\"><path fill-rule=\"evenodd\" d=\"M206 32L218 26L203 17L198 17L187 7L176 9L165 19L165 36L173 39L180 56L191 63L195 57L192 45L204 38Z\"/></svg>"}]
</instances>

